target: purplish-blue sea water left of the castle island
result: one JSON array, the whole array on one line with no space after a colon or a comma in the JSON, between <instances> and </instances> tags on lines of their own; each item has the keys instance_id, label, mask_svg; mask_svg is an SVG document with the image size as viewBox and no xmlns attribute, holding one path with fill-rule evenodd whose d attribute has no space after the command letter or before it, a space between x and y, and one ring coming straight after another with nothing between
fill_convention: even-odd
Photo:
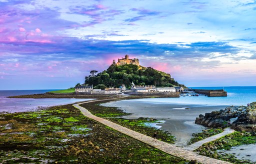
<instances>
[{"instance_id":1,"label":"purplish-blue sea water left of the castle island","mask_svg":"<svg viewBox=\"0 0 256 164\"><path fill-rule=\"evenodd\" d=\"M34 111L55 105L85 101L85 98L7 98L12 95L39 94L58 89L42 90L0 90L0 112Z\"/></svg>"}]
</instances>

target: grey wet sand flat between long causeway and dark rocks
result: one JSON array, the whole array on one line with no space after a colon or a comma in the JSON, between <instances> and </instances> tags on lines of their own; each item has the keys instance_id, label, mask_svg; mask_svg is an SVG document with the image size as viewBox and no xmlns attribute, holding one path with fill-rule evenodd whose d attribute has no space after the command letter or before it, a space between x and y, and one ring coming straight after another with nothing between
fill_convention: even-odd
<instances>
[{"instance_id":1,"label":"grey wet sand flat between long causeway and dark rocks","mask_svg":"<svg viewBox=\"0 0 256 164\"><path fill-rule=\"evenodd\" d=\"M132 113L123 116L124 118L149 117L164 120L164 123L158 125L161 126L161 129L171 132L176 137L175 144L178 146L185 146L192 137L192 133L205 129L204 126L194 123L199 114L226 107L226 105L173 104L136 100L114 101L104 105L120 107L125 112Z\"/></svg>"}]
</instances>

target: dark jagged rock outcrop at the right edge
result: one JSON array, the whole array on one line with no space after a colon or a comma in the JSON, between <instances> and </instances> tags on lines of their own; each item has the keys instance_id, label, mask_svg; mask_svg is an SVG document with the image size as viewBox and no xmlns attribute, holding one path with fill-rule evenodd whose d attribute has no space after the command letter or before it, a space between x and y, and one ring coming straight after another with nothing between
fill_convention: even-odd
<instances>
[{"instance_id":1,"label":"dark jagged rock outcrop at the right edge","mask_svg":"<svg viewBox=\"0 0 256 164\"><path fill-rule=\"evenodd\" d=\"M199 117L196 117L195 123L213 128L231 126L239 131L255 131L256 108L255 105L250 105L250 107L229 106L223 110L205 113L205 115L200 114Z\"/></svg>"}]
</instances>

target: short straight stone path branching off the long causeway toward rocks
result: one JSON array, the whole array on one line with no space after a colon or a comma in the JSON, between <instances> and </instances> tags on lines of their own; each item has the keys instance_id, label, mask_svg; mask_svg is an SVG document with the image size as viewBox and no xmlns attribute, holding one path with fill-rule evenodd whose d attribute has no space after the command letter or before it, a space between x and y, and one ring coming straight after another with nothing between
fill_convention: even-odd
<instances>
[{"instance_id":1,"label":"short straight stone path branching off the long causeway toward rocks","mask_svg":"<svg viewBox=\"0 0 256 164\"><path fill-rule=\"evenodd\" d=\"M230 127L226 127L226 128L224 128L223 132L220 132L220 133L218 133L216 135L212 135L212 136L207 137L205 139L199 140L199 141L194 142L194 143L192 143L192 144L190 144L188 146L185 146L183 148L186 149L186 150L193 151L193 150L197 149L198 147L200 147L204 143L211 142L213 140L216 140L216 139L218 139L220 137L223 137L223 136L225 136L227 134L231 134L233 132L234 132L234 129L231 129Z\"/></svg>"}]
</instances>

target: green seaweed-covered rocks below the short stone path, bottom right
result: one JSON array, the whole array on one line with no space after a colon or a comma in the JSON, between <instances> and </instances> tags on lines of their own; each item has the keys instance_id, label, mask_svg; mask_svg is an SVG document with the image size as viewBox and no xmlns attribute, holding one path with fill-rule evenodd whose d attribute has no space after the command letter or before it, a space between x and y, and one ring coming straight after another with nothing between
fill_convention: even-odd
<instances>
[{"instance_id":1,"label":"green seaweed-covered rocks below the short stone path, bottom right","mask_svg":"<svg viewBox=\"0 0 256 164\"><path fill-rule=\"evenodd\" d=\"M234 154L228 154L223 151L230 150L232 146L250 143L256 143L255 132L235 131L222 138L203 144L196 151L199 151L199 154L201 155L206 155L209 157L229 161L232 163L252 163L248 160L237 159Z\"/></svg>"}]
</instances>

